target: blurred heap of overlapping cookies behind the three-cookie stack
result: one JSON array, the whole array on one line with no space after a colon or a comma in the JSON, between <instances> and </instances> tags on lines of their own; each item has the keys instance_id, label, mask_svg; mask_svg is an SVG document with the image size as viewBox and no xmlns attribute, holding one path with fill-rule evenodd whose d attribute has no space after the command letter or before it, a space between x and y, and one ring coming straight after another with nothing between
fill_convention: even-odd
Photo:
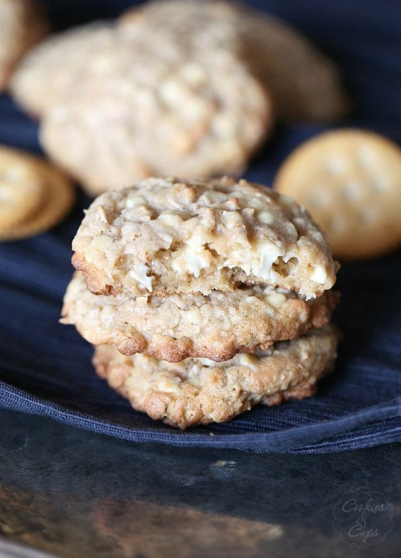
<instances>
[{"instance_id":1,"label":"blurred heap of overlapping cookies behind the three-cookie stack","mask_svg":"<svg viewBox=\"0 0 401 558\"><path fill-rule=\"evenodd\" d=\"M152 175L241 175L276 118L348 108L336 68L305 37L227 1L154 1L58 34L10 89L90 196Z\"/></svg>"}]
</instances>

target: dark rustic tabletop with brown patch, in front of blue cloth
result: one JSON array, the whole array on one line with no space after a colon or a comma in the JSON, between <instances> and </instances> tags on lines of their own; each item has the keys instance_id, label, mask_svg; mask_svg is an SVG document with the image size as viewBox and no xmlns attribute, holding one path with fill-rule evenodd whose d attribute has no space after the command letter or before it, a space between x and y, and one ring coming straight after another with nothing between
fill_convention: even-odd
<instances>
[{"instance_id":1,"label":"dark rustic tabletop with brown patch, in front of blue cloth","mask_svg":"<svg viewBox=\"0 0 401 558\"><path fill-rule=\"evenodd\" d=\"M134 444L0 410L0 533L66 558L395 557L400 455ZM376 537L347 540L349 490L386 503Z\"/></svg>"}]
</instances>

